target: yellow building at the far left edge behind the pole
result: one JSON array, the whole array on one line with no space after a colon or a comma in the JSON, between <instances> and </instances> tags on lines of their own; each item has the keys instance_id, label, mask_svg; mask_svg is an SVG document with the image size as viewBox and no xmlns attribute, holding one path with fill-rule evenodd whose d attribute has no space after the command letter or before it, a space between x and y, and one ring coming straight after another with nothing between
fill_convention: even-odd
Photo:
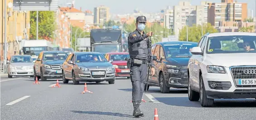
<instances>
[{"instance_id":1,"label":"yellow building at the far left edge behind the pole","mask_svg":"<svg viewBox=\"0 0 256 120\"><path fill-rule=\"evenodd\" d=\"M7 12L7 58L11 55L19 54L21 48L21 40L29 39L30 31L30 12L29 11L13 11L13 0L6 1L8 6L5 11L5 0L0 0L0 44L1 44L1 61L4 55L5 42L5 12Z\"/></svg>"}]
</instances>

